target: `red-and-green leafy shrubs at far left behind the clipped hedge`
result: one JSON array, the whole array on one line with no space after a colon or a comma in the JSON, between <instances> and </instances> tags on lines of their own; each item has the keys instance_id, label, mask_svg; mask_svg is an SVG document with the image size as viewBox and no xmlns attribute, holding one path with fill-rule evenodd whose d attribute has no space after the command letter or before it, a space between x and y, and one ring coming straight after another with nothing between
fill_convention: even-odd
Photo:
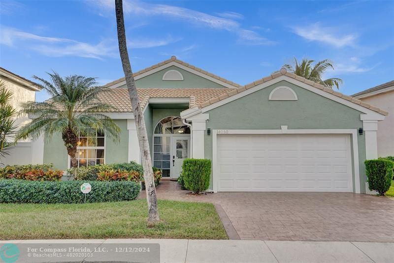
<instances>
[{"instance_id":1,"label":"red-and-green leafy shrubs at far left behind the clipped hedge","mask_svg":"<svg viewBox=\"0 0 394 263\"><path fill-rule=\"evenodd\" d=\"M0 178L27 181L59 181L63 171L54 170L52 164L7 165L0 168Z\"/></svg>"}]
</instances>

